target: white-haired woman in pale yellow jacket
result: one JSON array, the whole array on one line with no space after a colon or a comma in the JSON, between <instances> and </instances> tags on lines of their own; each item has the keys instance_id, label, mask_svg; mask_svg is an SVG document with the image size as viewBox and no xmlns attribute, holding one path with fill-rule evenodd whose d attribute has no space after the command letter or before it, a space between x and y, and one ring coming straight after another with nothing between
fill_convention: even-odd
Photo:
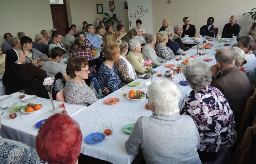
<instances>
[{"instance_id":1,"label":"white-haired woman in pale yellow jacket","mask_svg":"<svg viewBox=\"0 0 256 164\"><path fill-rule=\"evenodd\" d=\"M143 54L141 52L141 43L139 39L131 39L129 41L130 51L126 56L128 62L131 63L136 71L137 77L143 75L146 71L146 66L144 66Z\"/></svg>"}]
</instances>

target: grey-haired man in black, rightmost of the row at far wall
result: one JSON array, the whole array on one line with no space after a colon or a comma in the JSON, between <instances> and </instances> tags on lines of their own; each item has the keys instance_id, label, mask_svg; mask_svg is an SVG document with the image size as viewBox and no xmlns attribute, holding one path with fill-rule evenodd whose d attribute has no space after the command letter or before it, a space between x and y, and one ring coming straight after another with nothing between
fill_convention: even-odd
<instances>
[{"instance_id":1,"label":"grey-haired man in black, rightmost of the row at far wall","mask_svg":"<svg viewBox=\"0 0 256 164\"><path fill-rule=\"evenodd\" d=\"M239 32L241 27L237 24L237 15L231 15L229 19L229 23L225 24L223 31L222 31L222 38L230 38L233 36L239 37Z\"/></svg>"}]
</instances>

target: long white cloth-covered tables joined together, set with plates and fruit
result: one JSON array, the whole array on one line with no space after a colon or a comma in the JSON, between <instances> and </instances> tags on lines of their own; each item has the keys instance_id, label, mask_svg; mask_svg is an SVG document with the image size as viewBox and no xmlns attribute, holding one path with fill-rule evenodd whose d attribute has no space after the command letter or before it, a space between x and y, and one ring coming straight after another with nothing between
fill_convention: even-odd
<instances>
[{"instance_id":1,"label":"long white cloth-covered tables joined together, set with plates and fruit","mask_svg":"<svg viewBox=\"0 0 256 164\"><path fill-rule=\"evenodd\" d=\"M207 55L196 57L195 53L197 49L190 49L188 50L185 56L182 56L183 58L189 58L191 55L194 55L196 59L203 60L204 58L211 58L213 59L210 62L205 62L207 65L211 66L216 64L216 60L214 58L214 53L216 52L216 48L220 48L224 45L224 43L214 43L214 46L212 49L208 50L199 50L199 52L208 52ZM230 47L230 46L227 46ZM168 61L166 64L175 64L176 66L181 66L180 63L184 60L175 61L175 59ZM169 70L169 68L165 67L164 65L161 65L157 67L155 70L161 69L162 70L162 76L156 77L156 75L153 76L153 81L159 80L159 79L166 79L171 80L170 78L166 78L164 76L164 72L166 70ZM144 80L144 83L149 81ZM190 91L192 90L190 86L183 86L179 85L178 83L180 81L184 80L183 74L174 74L174 83L177 84L177 87L180 89L180 92L182 94L182 98L179 101L179 105L181 106L183 98L185 98ZM138 80L136 80L138 81ZM138 90L138 87L129 87L129 90ZM147 92L146 86L142 88L141 90L145 93ZM6 102L9 102L11 100L18 101L19 104L26 104L22 101L17 99L17 94L14 93L14 96L9 99ZM14 99L13 99L14 98ZM116 104L105 104L104 100L108 98L118 98L119 102ZM116 164L130 164L135 156L127 154L125 150L125 141L129 137L129 134L125 133L123 131L123 127L127 124L133 123L133 111L141 111L143 115L145 116L151 116L152 112L149 110L145 110L145 103L144 99L141 99L139 101L132 101L127 99L126 97L122 96L121 89L118 89L114 93L106 96L103 99L100 99L99 101L95 102L94 104L88 106L85 109L85 106L79 106L79 105L72 105L65 103L67 109L80 109L81 111L78 114L75 114L72 116L73 119L75 119L81 128L82 134L83 134L83 142L82 142L82 150L81 153L85 155L89 155L91 157L95 157L98 159L106 160L111 163ZM8 118L7 112L4 113L2 118L2 129L0 130L0 135L6 138L11 138L16 141L25 142L26 144L34 147L34 141L35 136L37 135L38 129L35 128L35 123L46 119L48 114L48 109L51 108L50 100L37 98L33 100L32 102L35 103L42 103L45 106L43 109L38 111L38 113L34 114L24 114L24 113L18 113L17 118L11 120ZM5 103L5 101L0 102L0 105ZM58 104L58 102L55 102ZM85 109L85 110L83 110ZM2 112L3 109L0 110ZM69 111L68 111L69 112ZM32 116L32 117L31 117ZM100 143L97 143L95 145L89 145L86 144L84 141L84 138L89 135L90 133L94 132L101 132L103 133L102 124L104 122L111 121L113 124L113 134L110 136L106 136L106 139L109 139L108 141L102 141Z\"/></svg>"}]
</instances>

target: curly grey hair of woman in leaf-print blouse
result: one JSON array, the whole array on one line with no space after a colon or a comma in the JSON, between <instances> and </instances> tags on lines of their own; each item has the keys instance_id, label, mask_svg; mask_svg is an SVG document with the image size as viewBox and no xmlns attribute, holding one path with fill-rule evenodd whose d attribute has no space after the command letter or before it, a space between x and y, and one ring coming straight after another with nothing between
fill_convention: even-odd
<instances>
[{"instance_id":1,"label":"curly grey hair of woman in leaf-print blouse","mask_svg":"<svg viewBox=\"0 0 256 164\"><path fill-rule=\"evenodd\" d=\"M191 60L182 68L183 75L193 89L203 89L212 82L210 68L201 60Z\"/></svg>"}]
</instances>

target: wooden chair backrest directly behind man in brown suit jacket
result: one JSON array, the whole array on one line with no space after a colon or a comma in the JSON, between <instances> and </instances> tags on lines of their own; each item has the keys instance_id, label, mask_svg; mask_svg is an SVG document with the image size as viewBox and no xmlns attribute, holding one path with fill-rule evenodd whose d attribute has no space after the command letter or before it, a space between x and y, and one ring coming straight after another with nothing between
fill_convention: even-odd
<instances>
[{"instance_id":1,"label":"wooden chair backrest directly behind man in brown suit jacket","mask_svg":"<svg viewBox=\"0 0 256 164\"><path fill-rule=\"evenodd\" d=\"M256 95L256 89L255 89L254 85L252 85L252 88L253 88L252 96L248 97L248 99L247 99L247 102L245 104L245 108L243 111L243 115L242 115L242 118L240 121L240 125L238 127L238 132L237 132L238 138L237 139L238 139L239 145L241 144L242 137L243 137L244 123L245 123L246 119L248 118L249 112L252 108L252 104L253 104L253 101L254 101L255 95Z\"/></svg>"}]
</instances>

